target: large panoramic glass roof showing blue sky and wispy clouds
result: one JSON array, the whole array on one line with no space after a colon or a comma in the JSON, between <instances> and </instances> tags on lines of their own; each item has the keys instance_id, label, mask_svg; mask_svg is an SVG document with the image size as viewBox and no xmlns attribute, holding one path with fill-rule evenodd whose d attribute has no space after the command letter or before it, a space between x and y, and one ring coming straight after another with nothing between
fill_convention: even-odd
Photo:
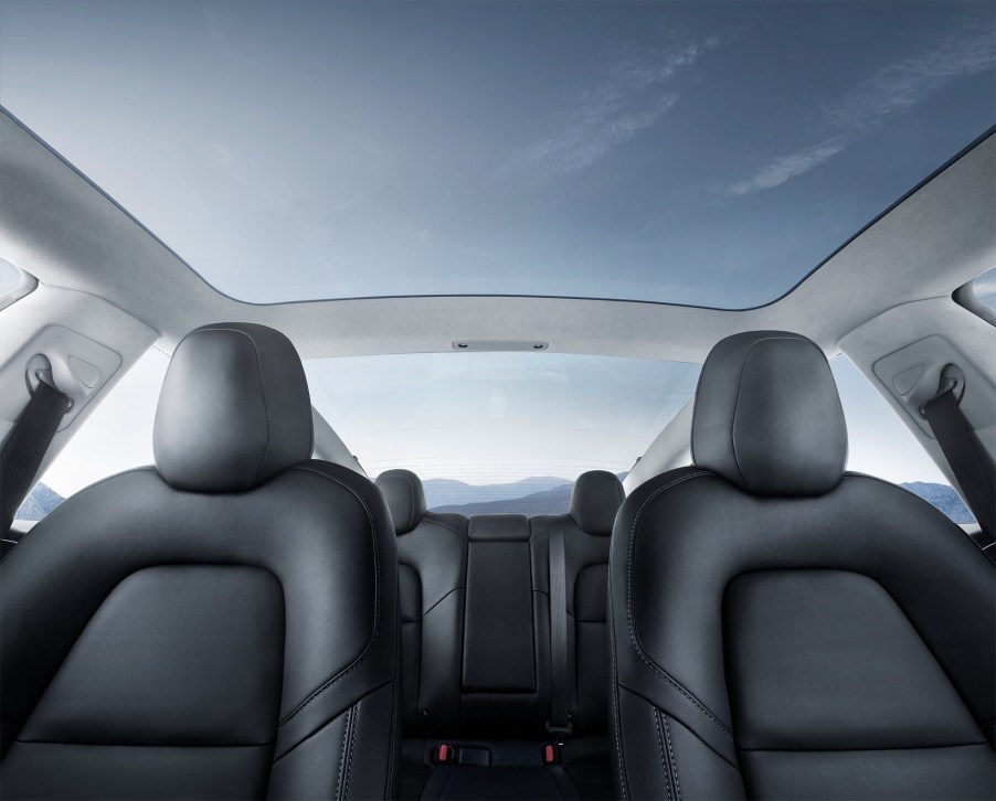
<instances>
[{"instance_id":1,"label":"large panoramic glass roof showing blue sky and wispy clouds","mask_svg":"<svg viewBox=\"0 0 996 801\"><path fill-rule=\"evenodd\" d=\"M0 103L257 303L764 305L996 122L989 1L0 14Z\"/></svg>"}]
</instances>

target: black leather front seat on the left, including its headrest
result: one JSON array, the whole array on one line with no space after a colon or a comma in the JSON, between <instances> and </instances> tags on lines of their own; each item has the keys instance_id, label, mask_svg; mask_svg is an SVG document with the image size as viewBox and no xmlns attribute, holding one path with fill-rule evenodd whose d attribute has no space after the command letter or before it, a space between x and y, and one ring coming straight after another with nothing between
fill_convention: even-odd
<instances>
[{"instance_id":1,"label":"black leather front seat on the left, including its headrest","mask_svg":"<svg viewBox=\"0 0 996 801\"><path fill-rule=\"evenodd\" d=\"M2 797L393 795L391 519L370 481L309 461L290 342L189 334L155 451L0 567Z\"/></svg>"}]
</instances>

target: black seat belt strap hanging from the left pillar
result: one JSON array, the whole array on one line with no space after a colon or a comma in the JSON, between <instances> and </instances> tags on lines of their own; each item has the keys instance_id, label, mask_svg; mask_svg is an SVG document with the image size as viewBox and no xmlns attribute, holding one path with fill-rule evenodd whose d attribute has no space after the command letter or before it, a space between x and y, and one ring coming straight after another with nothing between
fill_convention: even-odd
<instances>
[{"instance_id":1,"label":"black seat belt strap hanging from the left pillar","mask_svg":"<svg viewBox=\"0 0 996 801\"><path fill-rule=\"evenodd\" d=\"M52 444L70 398L39 381L0 449L0 536L7 537L21 502L31 491L45 452Z\"/></svg>"}]
</instances>

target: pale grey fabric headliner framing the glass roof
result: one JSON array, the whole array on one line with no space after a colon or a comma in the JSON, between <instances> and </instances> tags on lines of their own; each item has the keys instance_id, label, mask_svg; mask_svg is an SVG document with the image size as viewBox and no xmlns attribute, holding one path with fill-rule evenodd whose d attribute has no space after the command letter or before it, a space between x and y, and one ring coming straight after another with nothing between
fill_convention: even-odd
<instances>
[{"instance_id":1,"label":"pale grey fabric headliner framing the glass roof","mask_svg":"<svg viewBox=\"0 0 996 801\"><path fill-rule=\"evenodd\" d=\"M254 306L212 289L6 114L0 143L0 254L44 285L117 306L156 331L166 351L197 325L245 320L284 331L305 357L442 352L470 339L701 362L722 337L759 328L798 331L833 355L844 337L882 312L950 296L996 264L996 137L989 137L794 291L759 309L529 297Z\"/></svg>"}]
</instances>

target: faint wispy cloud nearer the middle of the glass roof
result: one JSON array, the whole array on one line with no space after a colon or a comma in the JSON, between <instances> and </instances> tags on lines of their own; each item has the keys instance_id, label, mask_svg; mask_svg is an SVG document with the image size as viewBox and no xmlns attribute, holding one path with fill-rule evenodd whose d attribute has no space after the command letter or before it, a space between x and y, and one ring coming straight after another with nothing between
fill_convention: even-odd
<instances>
[{"instance_id":1,"label":"faint wispy cloud nearer the middle of the glass roof","mask_svg":"<svg viewBox=\"0 0 996 801\"><path fill-rule=\"evenodd\" d=\"M614 64L562 111L550 135L512 153L499 172L545 179L594 163L672 108L680 97L671 86L675 76L718 45L708 39Z\"/></svg>"}]
</instances>

